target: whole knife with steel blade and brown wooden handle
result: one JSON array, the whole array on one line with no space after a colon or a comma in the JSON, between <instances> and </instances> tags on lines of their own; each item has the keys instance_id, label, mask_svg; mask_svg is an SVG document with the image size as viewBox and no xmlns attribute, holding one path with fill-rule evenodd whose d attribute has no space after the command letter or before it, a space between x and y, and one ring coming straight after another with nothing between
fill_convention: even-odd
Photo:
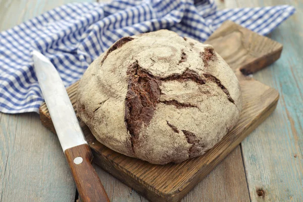
<instances>
[{"instance_id":1,"label":"whole knife with steel blade and brown wooden handle","mask_svg":"<svg viewBox=\"0 0 303 202\"><path fill-rule=\"evenodd\" d=\"M91 165L92 154L54 65L38 51L32 52L34 69L52 117L60 144L83 202L110 201Z\"/></svg>"}]
</instances>

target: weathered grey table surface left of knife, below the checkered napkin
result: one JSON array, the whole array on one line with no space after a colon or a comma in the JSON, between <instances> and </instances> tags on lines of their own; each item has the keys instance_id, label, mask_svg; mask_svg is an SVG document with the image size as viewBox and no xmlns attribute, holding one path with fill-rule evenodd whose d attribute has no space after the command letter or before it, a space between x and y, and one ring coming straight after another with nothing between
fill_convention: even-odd
<instances>
[{"instance_id":1,"label":"weathered grey table surface left of knife, below the checkered napkin","mask_svg":"<svg viewBox=\"0 0 303 202\"><path fill-rule=\"evenodd\" d=\"M1 124L6 126L1 126L0 148L7 157L1 201L74 201L75 185L58 137L39 123L38 115L2 114Z\"/></svg>"}]
</instances>

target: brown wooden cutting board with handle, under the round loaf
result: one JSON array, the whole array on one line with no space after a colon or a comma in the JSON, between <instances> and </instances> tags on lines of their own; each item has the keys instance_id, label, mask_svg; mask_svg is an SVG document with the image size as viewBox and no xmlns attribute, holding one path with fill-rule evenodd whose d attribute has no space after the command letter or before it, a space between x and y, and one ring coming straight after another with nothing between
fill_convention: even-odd
<instances>
[{"instance_id":1,"label":"brown wooden cutting board with handle, under the round loaf","mask_svg":"<svg viewBox=\"0 0 303 202\"><path fill-rule=\"evenodd\" d=\"M99 143L79 120L93 151L94 162L151 201L179 201L263 122L278 103L277 90L244 74L254 73L276 61L282 52L281 44L231 21L225 22L205 43L212 44L237 75L243 110L236 126L203 156L180 164L149 164L116 153ZM74 108L77 86L78 82L67 88ZM45 104L40 107L40 118L45 127L56 132Z\"/></svg>"}]
</instances>

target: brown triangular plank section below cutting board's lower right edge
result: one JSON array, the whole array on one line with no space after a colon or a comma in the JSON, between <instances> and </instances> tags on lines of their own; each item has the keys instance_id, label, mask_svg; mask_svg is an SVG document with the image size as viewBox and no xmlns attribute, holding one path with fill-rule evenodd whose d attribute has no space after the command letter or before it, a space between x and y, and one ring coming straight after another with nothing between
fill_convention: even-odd
<instances>
[{"instance_id":1,"label":"brown triangular plank section below cutting board's lower right edge","mask_svg":"<svg viewBox=\"0 0 303 202\"><path fill-rule=\"evenodd\" d=\"M249 201L240 146L185 195L182 202ZM215 182L215 183L214 183Z\"/></svg>"}]
</instances>

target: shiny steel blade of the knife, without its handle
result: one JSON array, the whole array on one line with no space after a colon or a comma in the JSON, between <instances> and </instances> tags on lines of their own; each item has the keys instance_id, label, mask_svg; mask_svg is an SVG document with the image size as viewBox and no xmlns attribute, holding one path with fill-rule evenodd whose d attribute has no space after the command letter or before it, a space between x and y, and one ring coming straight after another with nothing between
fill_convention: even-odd
<instances>
[{"instance_id":1,"label":"shiny steel blade of the knife, without its handle","mask_svg":"<svg viewBox=\"0 0 303 202\"><path fill-rule=\"evenodd\" d=\"M33 59L36 76L63 151L87 144L58 71L51 61L37 51L33 51Z\"/></svg>"}]
</instances>

